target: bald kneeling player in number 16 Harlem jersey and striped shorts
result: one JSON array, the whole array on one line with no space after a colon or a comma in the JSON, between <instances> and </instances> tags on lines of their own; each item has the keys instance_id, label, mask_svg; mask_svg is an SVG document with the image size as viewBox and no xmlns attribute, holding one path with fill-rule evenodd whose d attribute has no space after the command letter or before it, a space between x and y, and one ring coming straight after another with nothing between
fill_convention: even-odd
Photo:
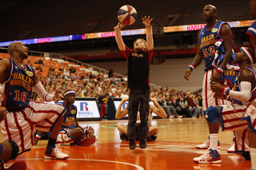
<instances>
[{"instance_id":1,"label":"bald kneeling player in number 16 Harlem jersey and striped shorts","mask_svg":"<svg viewBox=\"0 0 256 170\"><path fill-rule=\"evenodd\" d=\"M26 45L12 42L8 53L10 58L0 61L0 103L8 110L1 125L3 140L14 140L21 154L32 148L34 128L50 131L45 158L67 159L69 156L55 146L65 109L30 100L32 87L44 101L58 101L61 96L58 91L55 95L46 93L34 69L23 62L28 57Z\"/></svg>"}]
</instances>

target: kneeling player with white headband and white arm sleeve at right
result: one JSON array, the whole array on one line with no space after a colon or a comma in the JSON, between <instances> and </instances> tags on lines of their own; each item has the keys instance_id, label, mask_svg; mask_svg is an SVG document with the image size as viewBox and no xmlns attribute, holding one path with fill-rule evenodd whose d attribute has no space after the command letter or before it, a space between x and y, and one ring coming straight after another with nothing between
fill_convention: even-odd
<instances>
[{"instance_id":1,"label":"kneeling player with white headband and white arm sleeve at right","mask_svg":"<svg viewBox=\"0 0 256 170\"><path fill-rule=\"evenodd\" d=\"M247 134L248 122L241 121L246 112L247 105L256 97L256 73L250 66L254 63L254 50L242 47L235 55L234 62L240 66L240 72L235 81L234 90L222 87L217 82L210 85L214 93L226 95L232 105L210 106L206 109L206 120L208 121L211 140L209 152L203 156L195 157L194 162L202 164L221 163L221 156L218 154L218 129L235 132L235 153L242 154L246 160L250 160L249 138ZM218 95L220 96L220 95ZM254 144L255 140L250 140Z\"/></svg>"}]
</instances>

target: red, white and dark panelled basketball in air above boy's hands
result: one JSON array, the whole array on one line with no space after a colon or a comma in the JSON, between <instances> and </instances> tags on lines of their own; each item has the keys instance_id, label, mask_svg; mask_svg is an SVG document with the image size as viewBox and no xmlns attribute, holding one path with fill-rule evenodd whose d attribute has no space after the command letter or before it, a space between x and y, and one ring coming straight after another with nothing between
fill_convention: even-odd
<instances>
[{"instance_id":1,"label":"red, white and dark panelled basketball in air above boy's hands","mask_svg":"<svg viewBox=\"0 0 256 170\"><path fill-rule=\"evenodd\" d=\"M133 6L122 6L118 10L118 21L123 25L128 26L135 22L137 19L137 11Z\"/></svg>"}]
</instances>

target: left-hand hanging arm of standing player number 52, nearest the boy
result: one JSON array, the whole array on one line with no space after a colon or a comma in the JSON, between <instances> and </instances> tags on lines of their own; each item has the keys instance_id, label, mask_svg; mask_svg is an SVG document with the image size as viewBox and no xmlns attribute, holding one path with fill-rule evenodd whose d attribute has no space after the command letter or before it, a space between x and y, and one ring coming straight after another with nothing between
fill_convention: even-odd
<instances>
[{"instance_id":1,"label":"left-hand hanging arm of standing player number 52, nearest the boy","mask_svg":"<svg viewBox=\"0 0 256 170\"><path fill-rule=\"evenodd\" d=\"M198 36L199 36L199 32L198 32ZM201 50L201 48L200 48L200 41L199 41L199 38L198 38L198 52L197 52L197 54L195 55L194 60L193 60L193 62L192 62L191 65L194 65L194 68L197 68L198 65L201 64L202 59L203 59L203 54L202 54L202 50ZM192 69L190 69L190 68L186 69L186 71L185 71L185 73L184 73L184 78L185 78L187 81L190 80L189 77L190 77L191 73L192 73Z\"/></svg>"}]
</instances>

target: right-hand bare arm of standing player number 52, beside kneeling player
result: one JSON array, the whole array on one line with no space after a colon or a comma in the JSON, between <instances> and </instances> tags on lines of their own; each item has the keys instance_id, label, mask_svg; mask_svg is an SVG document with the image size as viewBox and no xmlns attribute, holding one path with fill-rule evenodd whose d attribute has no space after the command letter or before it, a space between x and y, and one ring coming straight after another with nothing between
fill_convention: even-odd
<instances>
[{"instance_id":1,"label":"right-hand bare arm of standing player number 52, beside kneeling player","mask_svg":"<svg viewBox=\"0 0 256 170\"><path fill-rule=\"evenodd\" d=\"M230 61L230 58L232 56L232 47L233 47L232 30L230 29L230 26L227 26L227 24L223 24L221 37L224 40L223 46L226 54L221 64L219 65L219 67L222 67L222 69L225 69L227 63ZM222 73L215 72L211 77L211 81L218 82L221 77L222 77Z\"/></svg>"}]
</instances>

